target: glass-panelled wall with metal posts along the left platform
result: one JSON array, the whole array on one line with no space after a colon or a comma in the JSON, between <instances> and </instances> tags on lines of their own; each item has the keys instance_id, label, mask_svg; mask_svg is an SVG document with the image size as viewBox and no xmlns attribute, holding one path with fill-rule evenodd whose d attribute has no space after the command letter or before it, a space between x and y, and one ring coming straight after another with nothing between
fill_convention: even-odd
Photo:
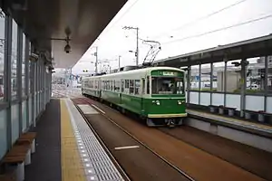
<instances>
[{"instance_id":1,"label":"glass-panelled wall with metal posts along the left platform","mask_svg":"<svg viewBox=\"0 0 272 181\"><path fill-rule=\"evenodd\" d=\"M12 14L0 9L0 160L51 98L52 72L42 58L30 61L33 46Z\"/></svg>"}]
</instances>

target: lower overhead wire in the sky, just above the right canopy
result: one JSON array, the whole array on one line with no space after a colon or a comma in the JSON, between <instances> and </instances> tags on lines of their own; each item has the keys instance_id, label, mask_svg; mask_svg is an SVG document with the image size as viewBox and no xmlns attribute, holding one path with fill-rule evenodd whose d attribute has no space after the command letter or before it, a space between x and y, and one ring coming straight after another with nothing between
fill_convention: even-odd
<instances>
[{"instance_id":1,"label":"lower overhead wire in the sky, just above the right canopy","mask_svg":"<svg viewBox=\"0 0 272 181\"><path fill-rule=\"evenodd\" d=\"M216 29L216 30L212 30L212 31L209 31L209 32L206 32L206 33L199 33L199 34L195 34L195 35L190 35L190 36L187 36L187 37L184 37L184 38L180 38L180 39L177 39L177 40L172 40L172 41L165 42L165 43L162 43L162 44L181 42L181 41L188 40L188 39L191 39L191 38L196 38L196 37L199 37L199 36L207 35L209 33L216 33L216 32L227 30L227 29L230 29L230 28L233 28L233 27L237 27L237 26L241 26L241 25L245 25L245 24L251 24L251 23L254 23L254 22L257 22L257 21L260 21L260 20L270 18L270 17L272 17L272 14L268 14L266 16L262 16L262 17L259 17L259 18L253 19L253 20L248 20L246 22L242 22L242 23L239 23L239 24L232 24L232 25L229 25L229 26L226 26L226 27L223 27L223 28L219 28L219 29Z\"/></svg>"}]
</instances>

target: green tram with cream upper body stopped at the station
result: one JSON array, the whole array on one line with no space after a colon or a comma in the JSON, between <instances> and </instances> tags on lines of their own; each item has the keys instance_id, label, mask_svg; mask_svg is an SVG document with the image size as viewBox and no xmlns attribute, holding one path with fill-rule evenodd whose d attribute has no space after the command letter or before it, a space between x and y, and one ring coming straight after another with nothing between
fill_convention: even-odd
<instances>
[{"instance_id":1,"label":"green tram with cream upper body stopped at the station","mask_svg":"<svg viewBox=\"0 0 272 181\"><path fill-rule=\"evenodd\" d=\"M185 71L149 67L85 77L82 93L146 120L148 126L181 125L187 116Z\"/></svg>"}]
</instances>

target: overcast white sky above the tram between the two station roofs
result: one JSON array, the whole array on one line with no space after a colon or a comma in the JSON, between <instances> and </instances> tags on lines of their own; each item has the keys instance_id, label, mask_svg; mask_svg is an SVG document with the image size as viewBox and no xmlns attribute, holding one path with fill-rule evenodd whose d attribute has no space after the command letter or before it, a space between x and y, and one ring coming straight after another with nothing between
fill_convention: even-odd
<instances>
[{"instance_id":1,"label":"overcast white sky above the tram between the two station roofs","mask_svg":"<svg viewBox=\"0 0 272 181\"><path fill-rule=\"evenodd\" d=\"M248 21L253 22L236 25ZM95 47L102 62L99 70L108 65L118 68L119 56L121 66L135 65L135 54L129 51L136 50L136 31L123 26L139 28L139 63L149 51L142 40L160 43L155 59L160 60L272 33L272 1L129 0L74 65L73 73L94 71Z\"/></svg>"}]
</instances>

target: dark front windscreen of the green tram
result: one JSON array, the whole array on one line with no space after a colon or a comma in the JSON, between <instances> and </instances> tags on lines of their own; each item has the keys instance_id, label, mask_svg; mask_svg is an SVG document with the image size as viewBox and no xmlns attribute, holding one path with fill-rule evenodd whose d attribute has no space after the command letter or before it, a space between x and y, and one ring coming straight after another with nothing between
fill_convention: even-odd
<instances>
[{"instance_id":1,"label":"dark front windscreen of the green tram","mask_svg":"<svg viewBox=\"0 0 272 181\"><path fill-rule=\"evenodd\" d=\"M152 94L184 94L184 81L177 77L152 77Z\"/></svg>"}]
</instances>

